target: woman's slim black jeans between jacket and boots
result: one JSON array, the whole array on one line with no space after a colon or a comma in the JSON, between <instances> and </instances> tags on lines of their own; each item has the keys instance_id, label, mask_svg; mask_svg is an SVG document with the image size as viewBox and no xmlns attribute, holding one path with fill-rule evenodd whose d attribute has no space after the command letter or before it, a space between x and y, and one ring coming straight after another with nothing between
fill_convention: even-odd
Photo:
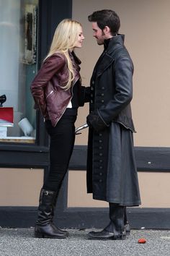
<instances>
[{"instance_id":1,"label":"woman's slim black jeans between jacket and boots","mask_svg":"<svg viewBox=\"0 0 170 256\"><path fill-rule=\"evenodd\" d=\"M43 189L59 192L61 188L73 153L75 121L76 116L62 116L55 127L50 121L45 122L50 135L50 171Z\"/></svg>"}]
</instances>

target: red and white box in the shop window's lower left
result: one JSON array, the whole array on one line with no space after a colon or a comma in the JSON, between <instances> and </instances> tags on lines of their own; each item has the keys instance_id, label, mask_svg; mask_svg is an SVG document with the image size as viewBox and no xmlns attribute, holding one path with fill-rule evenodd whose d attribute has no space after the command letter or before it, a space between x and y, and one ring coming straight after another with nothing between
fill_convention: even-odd
<instances>
[{"instance_id":1,"label":"red and white box in the shop window's lower left","mask_svg":"<svg viewBox=\"0 0 170 256\"><path fill-rule=\"evenodd\" d=\"M12 127L14 125L14 108L0 107L0 127Z\"/></svg>"}]
</instances>

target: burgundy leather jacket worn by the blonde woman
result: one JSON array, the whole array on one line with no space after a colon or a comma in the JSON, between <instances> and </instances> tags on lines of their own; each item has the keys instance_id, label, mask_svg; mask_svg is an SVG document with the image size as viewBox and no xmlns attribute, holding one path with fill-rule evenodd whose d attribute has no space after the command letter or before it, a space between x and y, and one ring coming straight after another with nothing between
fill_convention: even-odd
<instances>
[{"instance_id":1,"label":"burgundy leather jacket worn by the blonde woman","mask_svg":"<svg viewBox=\"0 0 170 256\"><path fill-rule=\"evenodd\" d=\"M81 86L79 64L81 61L72 52L69 52L75 78L73 85L79 82L79 106L89 101L86 95L86 88ZM66 56L61 53L53 54L42 64L40 71L32 81L31 92L35 100L35 108L40 108L45 120L50 119L53 127L66 111L69 101L73 97L73 85L69 90L63 90L62 85L68 80L68 67Z\"/></svg>"}]
</instances>

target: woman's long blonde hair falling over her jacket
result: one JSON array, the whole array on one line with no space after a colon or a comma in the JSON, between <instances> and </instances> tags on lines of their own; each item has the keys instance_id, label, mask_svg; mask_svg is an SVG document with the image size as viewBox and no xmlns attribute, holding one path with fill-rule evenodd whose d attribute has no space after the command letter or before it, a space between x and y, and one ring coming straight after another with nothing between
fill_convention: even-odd
<instances>
[{"instance_id":1,"label":"woman's long blonde hair falling over her jacket","mask_svg":"<svg viewBox=\"0 0 170 256\"><path fill-rule=\"evenodd\" d=\"M81 23L77 22L76 20L62 20L55 29L50 51L45 57L45 59L47 59L56 52L62 53L66 56L68 63L68 81L65 85L61 85L64 90L71 88L71 83L74 79L73 65L68 50L73 49L76 46L80 28Z\"/></svg>"}]
</instances>

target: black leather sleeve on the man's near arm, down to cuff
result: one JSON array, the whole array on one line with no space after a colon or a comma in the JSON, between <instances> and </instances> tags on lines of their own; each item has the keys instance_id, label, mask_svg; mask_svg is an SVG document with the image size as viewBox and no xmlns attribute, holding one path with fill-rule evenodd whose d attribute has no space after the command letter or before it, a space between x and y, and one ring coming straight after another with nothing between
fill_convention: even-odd
<instances>
[{"instance_id":1,"label":"black leather sleeve on the man's near arm, down to cuff","mask_svg":"<svg viewBox=\"0 0 170 256\"><path fill-rule=\"evenodd\" d=\"M122 56L115 62L115 95L111 101L100 106L89 114L87 119L92 119L91 125L98 132L109 126L110 122L120 114L133 98L133 62L130 58ZM106 81L107 82L107 81ZM98 116L94 121L92 116ZM98 127L99 124L99 127Z\"/></svg>"}]
</instances>

